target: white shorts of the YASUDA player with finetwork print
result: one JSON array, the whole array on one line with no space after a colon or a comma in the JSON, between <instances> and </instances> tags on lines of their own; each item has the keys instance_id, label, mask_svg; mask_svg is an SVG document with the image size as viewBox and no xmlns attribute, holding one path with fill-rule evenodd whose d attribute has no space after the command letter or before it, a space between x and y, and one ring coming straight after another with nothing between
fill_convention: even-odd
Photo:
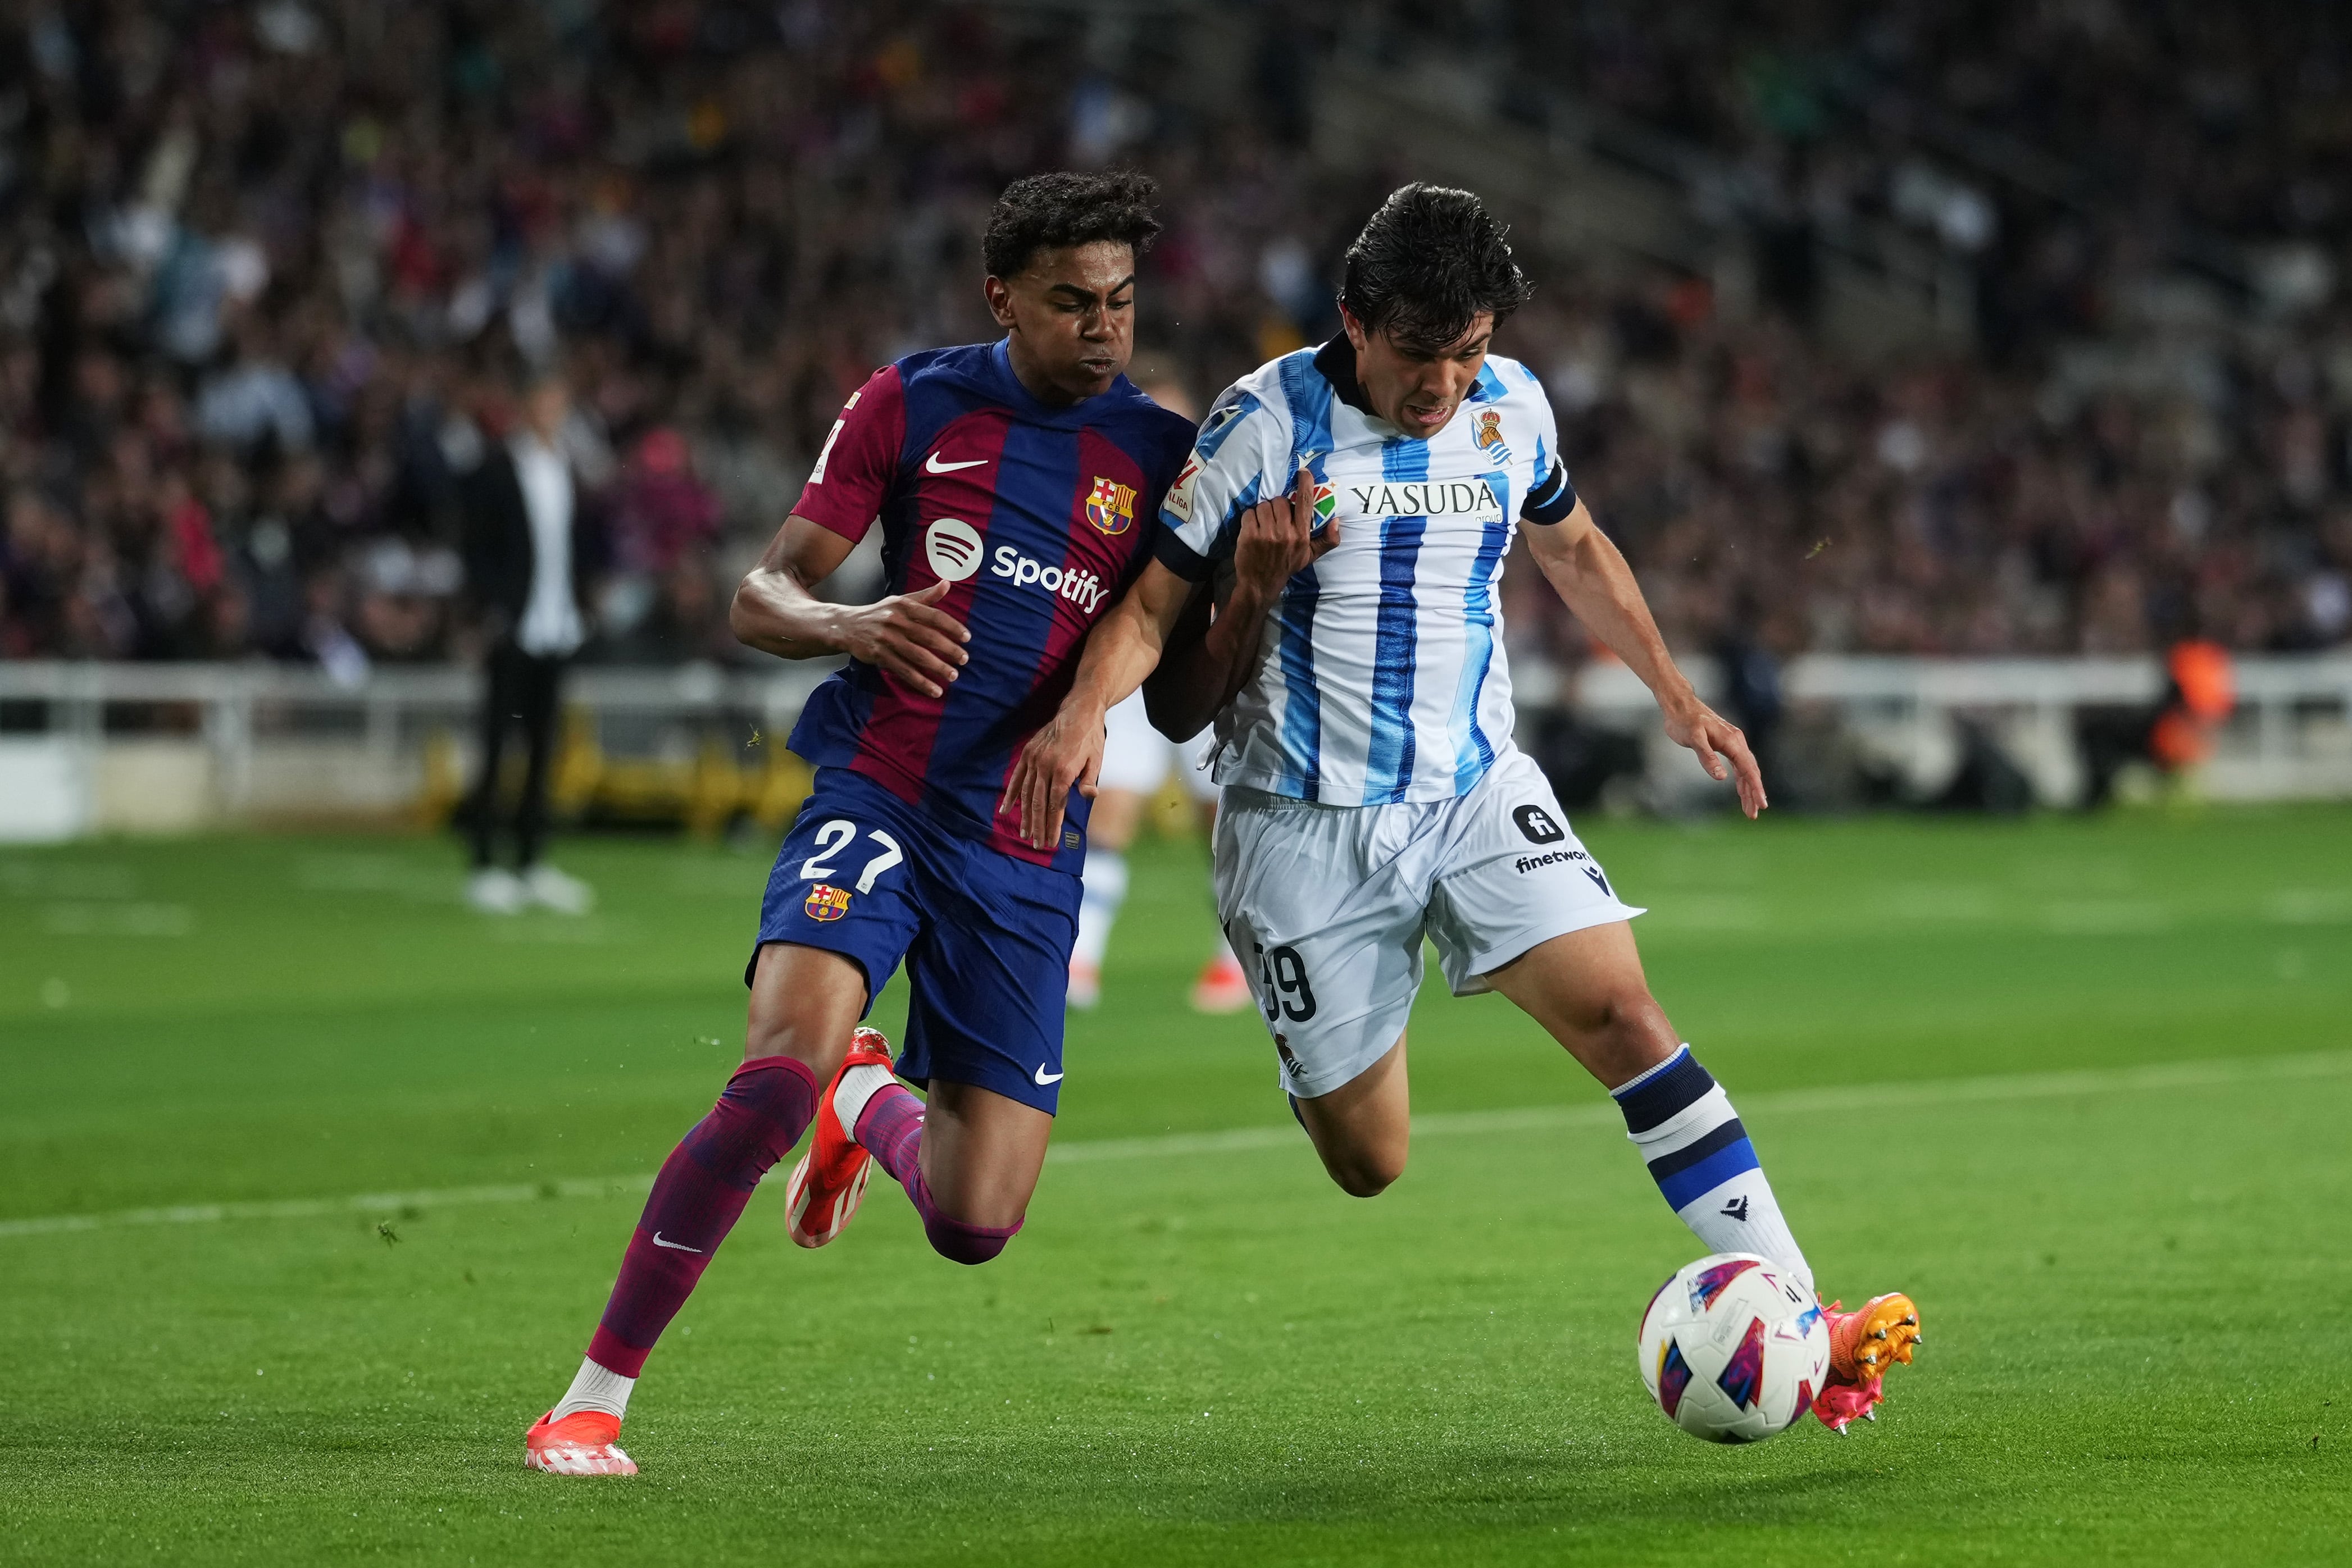
<instances>
[{"instance_id":1,"label":"white shorts of the YASUDA player with finetwork print","mask_svg":"<svg viewBox=\"0 0 2352 1568\"><path fill-rule=\"evenodd\" d=\"M1456 799L1315 806L1228 788L1216 912L1282 1058L1312 1100L1381 1060L1421 992L1421 938L1456 997L1536 943L1632 919L1569 832L1543 771L1505 750Z\"/></svg>"}]
</instances>

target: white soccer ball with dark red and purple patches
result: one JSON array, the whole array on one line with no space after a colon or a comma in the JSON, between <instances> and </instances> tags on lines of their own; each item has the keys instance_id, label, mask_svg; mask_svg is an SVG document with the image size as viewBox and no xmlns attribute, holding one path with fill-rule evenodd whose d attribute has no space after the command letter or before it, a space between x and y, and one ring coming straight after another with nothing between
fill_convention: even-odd
<instances>
[{"instance_id":1,"label":"white soccer ball with dark red and purple patches","mask_svg":"<svg viewBox=\"0 0 2352 1568\"><path fill-rule=\"evenodd\" d=\"M1639 1347L1649 1396L1710 1443L1755 1443L1792 1425L1830 1371L1820 1305L1755 1253L1679 1267L1649 1298Z\"/></svg>"}]
</instances>

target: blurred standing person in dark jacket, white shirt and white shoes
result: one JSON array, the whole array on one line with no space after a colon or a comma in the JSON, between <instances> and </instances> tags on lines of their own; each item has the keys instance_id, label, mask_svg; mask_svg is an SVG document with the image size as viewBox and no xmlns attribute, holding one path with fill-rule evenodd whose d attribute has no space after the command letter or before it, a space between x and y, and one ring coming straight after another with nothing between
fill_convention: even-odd
<instances>
[{"instance_id":1,"label":"blurred standing person in dark jacket, white shirt and white shoes","mask_svg":"<svg viewBox=\"0 0 2352 1568\"><path fill-rule=\"evenodd\" d=\"M536 378L522 418L487 447L461 482L466 576L489 635L482 703L482 769L473 790L473 877L466 900L487 914L541 905L586 914L595 891L546 865L548 771L564 665L588 639L593 562L581 487L564 456L572 390ZM513 870L499 865L499 762L508 726L522 729L522 799L513 816Z\"/></svg>"}]
</instances>

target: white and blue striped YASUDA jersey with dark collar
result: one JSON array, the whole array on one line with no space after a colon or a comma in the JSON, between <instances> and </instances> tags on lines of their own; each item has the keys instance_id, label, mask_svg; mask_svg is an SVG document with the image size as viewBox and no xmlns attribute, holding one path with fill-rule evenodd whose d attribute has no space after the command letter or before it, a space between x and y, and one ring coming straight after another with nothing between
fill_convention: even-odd
<instances>
[{"instance_id":1,"label":"white and blue striped YASUDA jersey with dark collar","mask_svg":"<svg viewBox=\"0 0 2352 1568\"><path fill-rule=\"evenodd\" d=\"M1576 508L1543 386L1489 355L1430 440L1364 411L1345 336L1232 383L1160 510L1157 559L1230 571L1242 512L1301 465L1341 543L1282 590L1258 670L1216 719L1216 780L1376 806L1465 795L1508 750L1496 583L1517 522Z\"/></svg>"}]
</instances>

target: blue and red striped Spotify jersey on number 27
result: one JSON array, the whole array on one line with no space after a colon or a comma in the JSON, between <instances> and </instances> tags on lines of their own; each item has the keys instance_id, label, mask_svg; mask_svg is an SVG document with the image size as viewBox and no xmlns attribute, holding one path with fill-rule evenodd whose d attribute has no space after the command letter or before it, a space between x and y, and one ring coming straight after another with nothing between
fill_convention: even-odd
<instances>
[{"instance_id":1,"label":"blue and red striped Spotify jersey on number 27","mask_svg":"<svg viewBox=\"0 0 2352 1568\"><path fill-rule=\"evenodd\" d=\"M1152 517L1190 449L1192 421L1127 376L1065 409L1037 402L1004 343L877 369L793 510L844 538L880 522L889 592L955 583L941 609L971 630L969 663L946 696L924 696L851 661L809 698L793 750L1007 856L1077 872L1077 790L1054 853L1023 844L997 799L1021 745L1068 696L1087 630L1150 559Z\"/></svg>"}]
</instances>

